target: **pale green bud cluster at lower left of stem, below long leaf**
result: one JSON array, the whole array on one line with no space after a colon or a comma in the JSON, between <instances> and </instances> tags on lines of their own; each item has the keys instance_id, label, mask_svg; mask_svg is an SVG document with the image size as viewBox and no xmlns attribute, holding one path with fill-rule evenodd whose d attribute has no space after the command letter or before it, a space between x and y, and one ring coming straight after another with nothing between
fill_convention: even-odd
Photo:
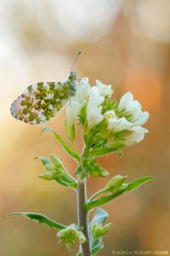
<instances>
[{"instance_id":1,"label":"pale green bud cluster at lower left of stem, below long leaf","mask_svg":"<svg viewBox=\"0 0 170 256\"><path fill-rule=\"evenodd\" d=\"M60 230L57 237L59 238L59 243L65 243L69 250L74 246L76 240L80 243L86 241L86 237L83 235L82 231L77 230L77 228L72 225L64 230Z\"/></svg>"}]
</instances>

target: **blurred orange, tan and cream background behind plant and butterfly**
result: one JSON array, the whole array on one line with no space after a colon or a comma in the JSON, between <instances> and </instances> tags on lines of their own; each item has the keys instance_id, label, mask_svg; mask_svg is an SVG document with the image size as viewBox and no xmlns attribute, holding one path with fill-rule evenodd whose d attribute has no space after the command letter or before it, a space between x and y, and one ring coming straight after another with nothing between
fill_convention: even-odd
<instances>
[{"instance_id":1,"label":"blurred orange, tan and cream background behind plant and butterfly","mask_svg":"<svg viewBox=\"0 0 170 256\"><path fill-rule=\"evenodd\" d=\"M150 112L144 141L99 159L111 173L88 178L88 195L114 175L158 180L106 205L114 223L99 255L118 250L169 249L170 236L170 2L168 0L0 0L0 255L75 255L59 246L55 230L6 212L42 212L56 221L77 221L71 189L37 176L36 155L57 154L74 175L70 160L42 126L23 124L9 113L11 102L29 84L62 81L77 51L78 77L113 84L115 96L131 90ZM48 123L65 138L65 109ZM82 148L80 131L77 147Z\"/></svg>"}]
</instances>

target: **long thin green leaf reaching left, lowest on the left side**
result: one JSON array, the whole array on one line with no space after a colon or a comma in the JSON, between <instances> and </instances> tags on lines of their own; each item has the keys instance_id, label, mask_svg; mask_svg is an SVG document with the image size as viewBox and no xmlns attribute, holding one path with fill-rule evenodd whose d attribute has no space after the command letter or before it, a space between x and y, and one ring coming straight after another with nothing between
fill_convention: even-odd
<instances>
[{"instance_id":1,"label":"long thin green leaf reaching left, lowest on the left side","mask_svg":"<svg viewBox=\"0 0 170 256\"><path fill-rule=\"evenodd\" d=\"M46 224L51 228L58 229L58 230L64 230L66 228L65 225L59 224L55 222L53 219L46 217L45 215L42 215L40 213L35 212L12 212L5 215L5 217L9 216L23 216L26 218L30 218L31 220L35 220L41 224Z\"/></svg>"}]
</instances>

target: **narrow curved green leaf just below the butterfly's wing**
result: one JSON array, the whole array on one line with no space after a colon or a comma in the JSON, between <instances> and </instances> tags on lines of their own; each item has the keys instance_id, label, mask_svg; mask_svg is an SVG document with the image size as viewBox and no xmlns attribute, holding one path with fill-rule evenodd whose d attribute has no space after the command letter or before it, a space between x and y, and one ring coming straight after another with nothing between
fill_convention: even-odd
<instances>
[{"instance_id":1,"label":"narrow curved green leaf just below the butterfly's wing","mask_svg":"<svg viewBox=\"0 0 170 256\"><path fill-rule=\"evenodd\" d=\"M70 146L65 143L65 141L59 136L58 133L56 133L55 131L51 130L51 129L48 128L48 127L42 129L41 134L42 134L42 132L44 132L44 131L50 131L50 132L52 132L52 133L54 134L54 138L62 145L62 147L65 149L66 153L67 153L67 154L70 154L71 157L74 158L75 160L77 160L78 162L80 161L79 155L77 155L75 152L73 152L73 151L71 150Z\"/></svg>"}]
</instances>

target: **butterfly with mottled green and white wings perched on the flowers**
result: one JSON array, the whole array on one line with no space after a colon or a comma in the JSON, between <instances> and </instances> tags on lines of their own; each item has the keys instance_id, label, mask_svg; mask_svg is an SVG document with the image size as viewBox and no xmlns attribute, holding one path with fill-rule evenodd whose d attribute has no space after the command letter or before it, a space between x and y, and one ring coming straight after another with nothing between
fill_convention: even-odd
<instances>
[{"instance_id":1,"label":"butterfly with mottled green and white wings perched on the flowers","mask_svg":"<svg viewBox=\"0 0 170 256\"><path fill-rule=\"evenodd\" d=\"M81 51L78 52L78 55ZM73 62L77 61L77 57ZM70 72L64 82L31 84L12 103L10 112L15 119L30 125L42 125L52 119L77 94L77 73Z\"/></svg>"}]
</instances>

